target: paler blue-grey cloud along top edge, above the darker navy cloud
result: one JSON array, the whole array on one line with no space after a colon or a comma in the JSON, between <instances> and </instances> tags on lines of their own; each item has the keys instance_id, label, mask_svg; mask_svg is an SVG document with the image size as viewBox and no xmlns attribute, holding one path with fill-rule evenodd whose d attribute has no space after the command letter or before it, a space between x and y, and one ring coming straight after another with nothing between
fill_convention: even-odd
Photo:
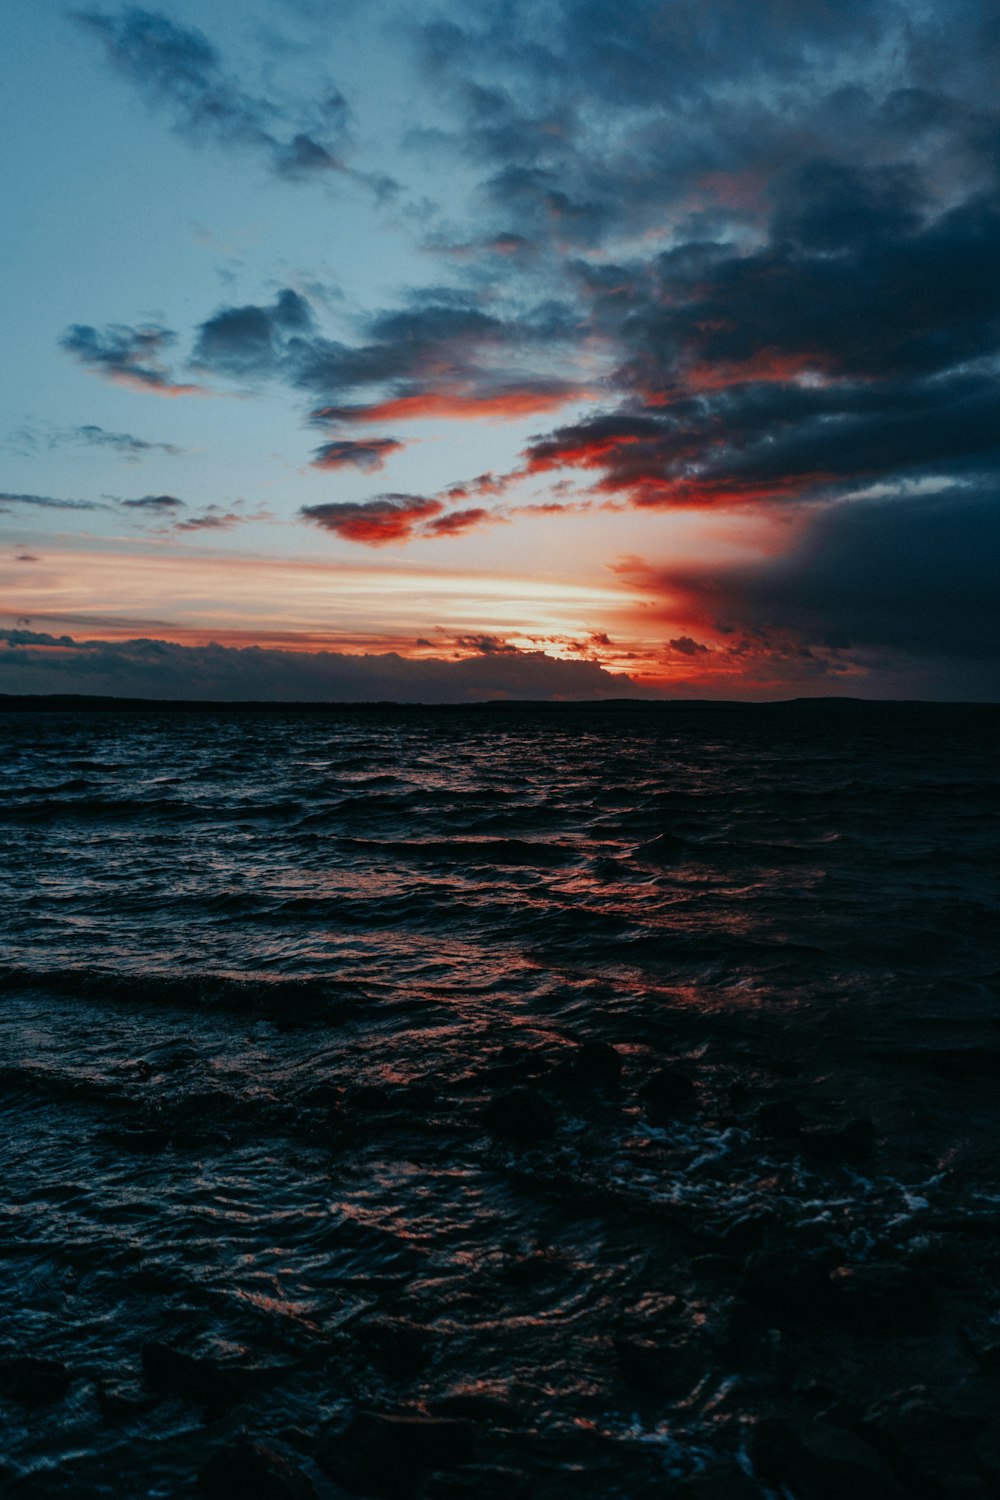
<instances>
[{"instance_id":1,"label":"paler blue-grey cloud along top edge, above the darker navy cloud","mask_svg":"<svg viewBox=\"0 0 1000 1500\"><path fill-rule=\"evenodd\" d=\"M927 168L946 202L997 160L997 26L892 0L457 3L421 32L457 123L420 136L483 170L495 231L564 250L760 228L810 158ZM462 237L456 236L462 244Z\"/></svg>"}]
</instances>

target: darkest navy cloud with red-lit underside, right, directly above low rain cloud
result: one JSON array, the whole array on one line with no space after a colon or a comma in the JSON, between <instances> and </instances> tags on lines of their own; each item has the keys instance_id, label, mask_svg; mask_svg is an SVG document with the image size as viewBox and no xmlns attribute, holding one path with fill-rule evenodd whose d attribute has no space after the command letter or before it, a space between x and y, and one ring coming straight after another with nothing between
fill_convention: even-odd
<instances>
[{"instance_id":1,"label":"darkest navy cloud with red-lit underside, right, directly above low rain cloud","mask_svg":"<svg viewBox=\"0 0 1000 1500\"><path fill-rule=\"evenodd\" d=\"M645 506L1000 470L1000 196L921 224L910 172L825 160L775 200L759 250L592 280L633 396L538 438L529 470L598 471Z\"/></svg>"}]
</instances>

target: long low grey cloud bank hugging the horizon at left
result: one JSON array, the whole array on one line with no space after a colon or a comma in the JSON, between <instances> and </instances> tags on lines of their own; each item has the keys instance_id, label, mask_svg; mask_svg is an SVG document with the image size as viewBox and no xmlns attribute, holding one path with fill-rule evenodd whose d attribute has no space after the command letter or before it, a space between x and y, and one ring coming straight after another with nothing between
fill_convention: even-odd
<instances>
[{"instance_id":1,"label":"long low grey cloud bank hugging the horizon at left","mask_svg":"<svg viewBox=\"0 0 1000 1500\"><path fill-rule=\"evenodd\" d=\"M490 638L481 638L483 642ZM240 702L472 704L487 699L657 698L592 662L489 650L462 660L342 656L165 640L73 640L0 630L0 692Z\"/></svg>"}]
</instances>

